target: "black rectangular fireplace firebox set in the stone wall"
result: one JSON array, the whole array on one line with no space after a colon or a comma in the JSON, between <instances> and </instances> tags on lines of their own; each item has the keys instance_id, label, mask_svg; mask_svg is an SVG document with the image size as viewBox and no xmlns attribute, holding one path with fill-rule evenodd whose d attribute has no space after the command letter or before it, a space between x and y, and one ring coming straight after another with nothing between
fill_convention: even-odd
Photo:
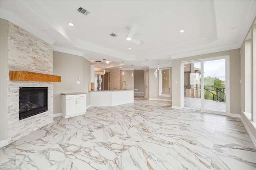
<instances>
[{"instance_id":1,"label":"black rectangular fireplace firebox set in the stone wall","mask_svg":"<svg viewBox=\"0 0 256 170\"><path fill-rule=\"evenodd\" d=\"M48 110L48 87L21 87L19 119Z\"/></svg>"}]
</instances>

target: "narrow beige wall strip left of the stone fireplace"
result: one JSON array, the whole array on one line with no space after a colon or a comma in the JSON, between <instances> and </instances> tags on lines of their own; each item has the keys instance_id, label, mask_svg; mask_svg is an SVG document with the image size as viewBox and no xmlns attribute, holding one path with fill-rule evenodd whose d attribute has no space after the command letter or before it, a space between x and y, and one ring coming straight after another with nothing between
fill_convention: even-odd
<instances>
[{"instance_id":1,"label":"narrow beige wall strip left of the stone fireplace","mask_svg":"<svg viewBox=\"0 0 256 170\"><path fill-rule=\"evenodd\" d=\"M8 139L8 21L0 19L0 141Z\"/></svg>"}]
</instances>

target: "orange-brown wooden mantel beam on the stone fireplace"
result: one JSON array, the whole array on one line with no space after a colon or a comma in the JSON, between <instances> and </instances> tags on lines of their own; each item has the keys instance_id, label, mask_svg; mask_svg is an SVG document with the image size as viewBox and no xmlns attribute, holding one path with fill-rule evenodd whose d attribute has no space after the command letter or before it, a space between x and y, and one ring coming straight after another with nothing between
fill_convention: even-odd
<instances>
[{"instance_id":1,"label":"orange-brown wooden mantel beam on the stone fireplace","mask_svg":"<svg viewBox=\"0 0 256 170\"><path fill-rule=\"evenodd\" d=\"M10 71L9 77L17 81L60 82L60 76L28 71Z\"/></svg>"}]
</instances>

